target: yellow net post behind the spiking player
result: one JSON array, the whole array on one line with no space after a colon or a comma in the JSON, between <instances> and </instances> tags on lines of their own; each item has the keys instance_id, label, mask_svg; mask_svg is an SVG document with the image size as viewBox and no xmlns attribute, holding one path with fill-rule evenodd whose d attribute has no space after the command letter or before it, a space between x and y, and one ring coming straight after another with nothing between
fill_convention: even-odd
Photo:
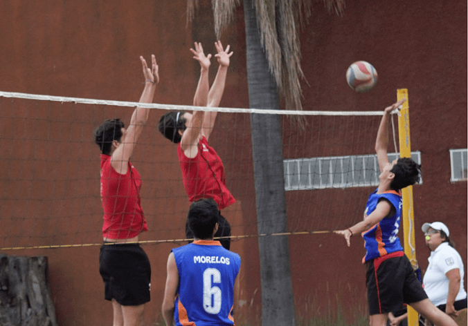
<instances>
[{"instance_id":1,"label":"yellow net post behind the spiking player","mask_svg":"<svg viewBox=\"0 0 468 326\"><path fill-rule=\"evenodd\" d=\"M398 135L399 135L399 156L411 157L411 141L409 128L409 105L408 90L406 88L397 90L397 100L406 99L398 117ZM404 234L404 253L416 270L416 249L415 249L415 222L413 213L413 186L402 189L403 207L403 234ZM418 315L415 309L408 306L408 326L418 325Z\"/></svg>"}]
</instances>

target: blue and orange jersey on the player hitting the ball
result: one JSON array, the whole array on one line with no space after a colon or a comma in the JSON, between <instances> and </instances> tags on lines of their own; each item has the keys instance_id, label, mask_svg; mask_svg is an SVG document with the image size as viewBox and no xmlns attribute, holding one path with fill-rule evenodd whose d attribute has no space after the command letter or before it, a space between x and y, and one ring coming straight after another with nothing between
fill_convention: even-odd
<instances>
[{"instance_id":1,"label":"blue and orange jersey on the player hitting the ball","mask_svg":"<svg viewBox=\"0 0 468 326\"><path fill-rule=\"evenodd\" d=\"M403 203L402 193L400 191L392 190L384 193L377 193L377 190L375 190L371 193L366 204L366 211L364 211L364 219L375 211L377 204L383 199L388 200L388 202L395 207L395 213L391 216L386 216L368 229L368 231L362 233L362 237L365 241L364 247L366 248L366 256L363 258L363 262L385 256L395 251L403 251L403 247L398 238Z\"/></svg>"}]
</instances>

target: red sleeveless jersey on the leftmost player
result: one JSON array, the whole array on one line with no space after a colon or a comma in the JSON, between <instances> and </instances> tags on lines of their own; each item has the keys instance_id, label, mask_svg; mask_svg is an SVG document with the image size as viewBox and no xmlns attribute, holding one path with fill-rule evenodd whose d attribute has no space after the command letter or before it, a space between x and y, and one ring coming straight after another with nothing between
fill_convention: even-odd
<instances>
[{"instance_id":1,"label":"red sleeveless jersey on the leftmost player","mask_svg":"<svg viewBox=\"0 0 468 326\"><path fill-rule=\"evenodd\" d=\"M100 195L104 209L102 236L110 239L127 239L147 231L140 203L140 173L130 162L127 173L117 173L111 166L111 157L101 154L100 175Z\"/></svg>"}]
</instances>

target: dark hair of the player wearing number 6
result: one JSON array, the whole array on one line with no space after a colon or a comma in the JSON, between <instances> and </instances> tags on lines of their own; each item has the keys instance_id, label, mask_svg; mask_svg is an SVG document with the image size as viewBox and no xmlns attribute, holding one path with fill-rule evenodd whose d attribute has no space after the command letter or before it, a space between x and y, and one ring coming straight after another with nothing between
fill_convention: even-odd
<instances>
[{"instance_id":1,"label":"dark hair of the player wearing number 6","mask_svg":"<svg viewBox=\"0 0 468 326\"><path fill-rule=\"evenodd\" d=\"M218 215L218 205L212 198L192 202L188 210L187 224L193 236L201 240L213 238Z\"/></svg>"}]
</instances>

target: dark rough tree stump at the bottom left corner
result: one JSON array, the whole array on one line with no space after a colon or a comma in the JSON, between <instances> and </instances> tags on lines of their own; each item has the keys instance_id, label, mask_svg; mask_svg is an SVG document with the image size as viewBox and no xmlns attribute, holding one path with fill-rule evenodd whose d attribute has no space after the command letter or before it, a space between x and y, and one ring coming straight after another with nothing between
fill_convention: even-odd
<instances>
[{"instance_id":1,"label":"dark rough tree stump at the bottom left corner","mask_svg":"<svg viewBox=\"0 0 468 326\"><path fill-rule=\"evenodd\" d=\"M0 325L56 326L47 257L0 253Z\"/></svg>"}]
</instances>

